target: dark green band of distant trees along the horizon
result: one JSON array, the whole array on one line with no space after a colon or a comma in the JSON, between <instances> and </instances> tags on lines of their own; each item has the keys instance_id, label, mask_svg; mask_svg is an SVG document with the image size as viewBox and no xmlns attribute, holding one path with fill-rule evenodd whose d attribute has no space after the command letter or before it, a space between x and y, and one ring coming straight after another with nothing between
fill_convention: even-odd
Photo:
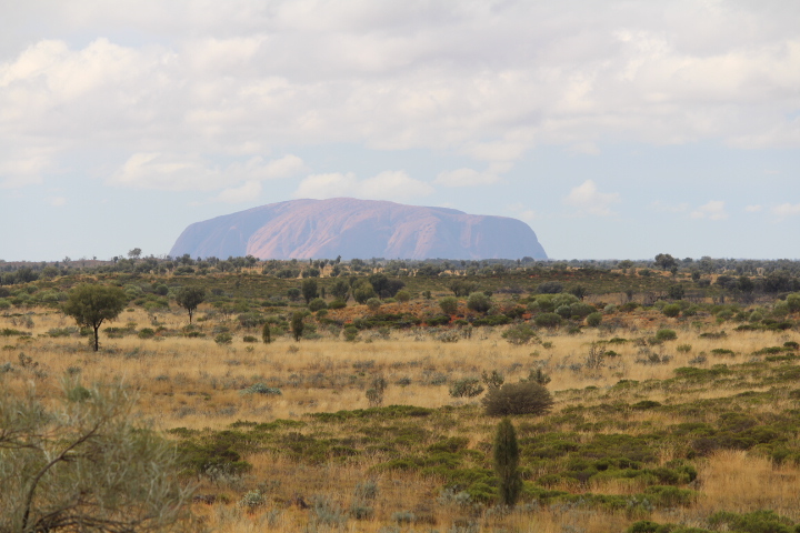
<instances>
[{"instance_id":1,"label":"dark green band of distant trees along the horizon","mask_svg":"<svg viewBox=\"0 0 800 533\"><path fill-rule=\"evenodd\" d=\"M473 290L470 281L458 281L461 278L497 276L506 274L528 274L531 276L547 275L559 272L579 271L621 272L638 275L683 275L689 274L699 288L718 288L740 293L782 293L800 290L799 260L752 260L752 259L700 259L673 258L668 253L659 253L650 260L571 260L552 261L534 260L526 257L516 260L448 260L430 259L424 261L400 260L386 258L371 259L311 259L311 260L266 260L252 255L229 257L228 259L191 258L183 254L178 258L141 257L140 249L118 255L108 261L80 259L72 261L64 258L54 262L6 262L0 260L0 286L30 283L40 279L53 279L73 274L159 274L159 275L207 275L221 272L253 272L278 279L309 280L316 278L349 278L349 292L361 301L370 298L393 298L402 289L404 276L456 276L453 292L457 296L466 296ZM370 278L381 275L382 278ZM359 288L351 278L369 279L369 288L364 283ZM341 288L340 288L341 292ZM337 294L333 294L337 296ZM339 294L342 298L344 294ZM583 298L582 294L576 294ZM306 294L303 294L306 298ZM308 298L306 298L308 300ZM310 301L310 300L308 300Z\"/></svg>"}]
</instances>

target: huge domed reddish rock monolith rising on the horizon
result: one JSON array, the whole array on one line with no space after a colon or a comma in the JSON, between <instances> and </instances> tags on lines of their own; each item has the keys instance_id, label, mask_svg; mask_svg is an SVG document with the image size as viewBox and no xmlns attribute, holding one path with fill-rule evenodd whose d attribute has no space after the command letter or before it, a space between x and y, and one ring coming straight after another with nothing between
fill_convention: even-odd
<instances>
[{"instance_id":1,"label":"huge domed reddish rock monolith rising on the horizon","mask_svg":"<svg viewBox=\"0 0 800 533\"><path fill-rule=\"evenodd\" d=\"M454 209L334 198L271 203L196 222L170 255L259 259L547 259L528 224Z\"/></svg>"}]
</instances>

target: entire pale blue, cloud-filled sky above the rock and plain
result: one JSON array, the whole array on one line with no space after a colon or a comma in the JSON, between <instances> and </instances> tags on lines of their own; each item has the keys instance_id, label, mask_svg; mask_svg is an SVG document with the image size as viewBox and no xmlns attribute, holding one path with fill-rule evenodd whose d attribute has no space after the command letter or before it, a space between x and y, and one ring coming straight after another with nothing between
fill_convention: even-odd
<instances>
[{"instance_id":1,"label":"entire pale blue, cloud-filled sky above the rock and plain","mask_svg":"<svg viewBox=\"0 0 800 533\"><path fill-rule=\"evenodd\" d=\"M797 0L0 0L0 259L354 197L800 258ZM511 258L514 259L514 258Z\"/></svg>"}]
</instances>

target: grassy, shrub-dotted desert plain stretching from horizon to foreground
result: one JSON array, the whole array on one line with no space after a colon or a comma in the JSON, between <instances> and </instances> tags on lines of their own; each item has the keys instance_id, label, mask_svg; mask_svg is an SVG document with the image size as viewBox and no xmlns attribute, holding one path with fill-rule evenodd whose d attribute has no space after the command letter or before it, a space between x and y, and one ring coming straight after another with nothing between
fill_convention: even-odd
<instances>
[{"instance_id":1,"label":"grassy, shrub-dotted desert plain stretching from horizon to foreground","mask_svg":"<svg viewBox=\"0 0 800 533\"><path fill-rule=\"evenodd\" d=\"M3 509L20 509L20 483L80 434L72 422L91 426L98 399L140 393L104 419L106 447L41 477L53 490L34 491L37 523L60 495L138 530L197 529L189 514L231 532L800 521L792 262L137 255L46 268L0 263ZM61 311L86 284L120 302L97 328ZM189 289L203 295L191 310ZM19 435L33 436L6 446ZM84 474L113 480L101 469L122 456L152 461L120 471L118 492L81 482L69 495ZM173 491L174 512L137 503L142 476ZM23 531L19 516L0 530Z\"/></svg>"}]
</instances>

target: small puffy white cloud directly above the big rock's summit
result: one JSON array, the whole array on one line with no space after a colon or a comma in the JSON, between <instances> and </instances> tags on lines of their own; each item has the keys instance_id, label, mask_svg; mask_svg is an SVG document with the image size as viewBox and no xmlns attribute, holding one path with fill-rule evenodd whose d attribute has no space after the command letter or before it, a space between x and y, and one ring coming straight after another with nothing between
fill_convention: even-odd
<instances>
[{"instance_id":1,"label":"small puffy white cloud directly above the big rock's summit","mask_svg":"<svg viewBox=\"0 0 800 533\"><path fill-rule=\"evenodd\" d=\"M300 182L294 198L356 197L371 200L407 200L433 192L428 183L410 178L402 171L384 171L359 180L353 173L312 174Z\"/></svg>"}]
</instances>

